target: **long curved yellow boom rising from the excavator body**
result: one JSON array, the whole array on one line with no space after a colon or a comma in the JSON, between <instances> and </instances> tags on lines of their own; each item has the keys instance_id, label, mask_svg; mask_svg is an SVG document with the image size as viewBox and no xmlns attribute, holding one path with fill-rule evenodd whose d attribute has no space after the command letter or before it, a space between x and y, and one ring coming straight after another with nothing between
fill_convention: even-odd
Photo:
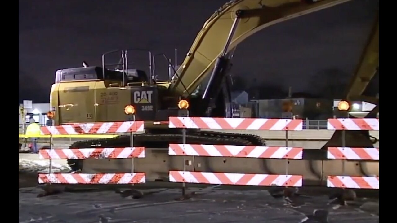
<instances>
[{"instance_id":1,"label":"long curved yellow boom rising from the excavator body","mask_svg":"<svg viewBox=\"0 0 397 223\"><path fill-rule=\"evenodd\" d=\"M204 23L177 70L177 75L173 76L170 88L183 96L197 88L214 68L216 59L222 56L238 11L244 13L227 51L266 27L349 1L351 0L232 0Z\"/></svg>"}]
</instances>

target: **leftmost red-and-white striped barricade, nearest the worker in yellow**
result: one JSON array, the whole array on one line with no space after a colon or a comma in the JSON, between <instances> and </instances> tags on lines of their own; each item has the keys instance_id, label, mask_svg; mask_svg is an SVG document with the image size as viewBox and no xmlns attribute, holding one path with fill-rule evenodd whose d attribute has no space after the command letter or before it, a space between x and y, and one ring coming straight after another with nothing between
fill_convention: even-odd
<instances>
[{"instance_id":1,"label":"leftmost red-and-white striped barricade, nearest the worker in yellow","mask_svg":"<svg viewBox=\"0 0 397 223\"><path fill-rule=\"evenodd\" d=\"M50 149L39 151L40 159L50 160L49 173L39 174L39 183L48 184L139 184L145 183L145 173L134 173L134 158L145 158L144 147L133 147L133 132L143 132L143 121L102 123L71 123L41 127L43 135L51 135ZM131 147L53 149L53 135L83 135L131 133ZM52 173L52 159L129 159L131 173Z\"/></svg>"}]
</instances>

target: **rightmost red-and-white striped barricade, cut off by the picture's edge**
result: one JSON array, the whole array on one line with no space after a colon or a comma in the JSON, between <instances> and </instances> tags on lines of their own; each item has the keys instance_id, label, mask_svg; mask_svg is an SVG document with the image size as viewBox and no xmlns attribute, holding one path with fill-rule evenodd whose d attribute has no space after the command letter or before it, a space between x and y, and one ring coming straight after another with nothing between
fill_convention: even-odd
<instances>
[{"instance_id":1,"label":"rightmost red-and-white striped barricade, cut off by the picture's edge","mask_svg":"<svg viewBox=\"0 0 397 223\"><path fill-rule=\"evenodd\" d=\"M378 118L336 118L328 119L328 130L342 130L342 147L329 147L328 159L342 161L342 176L328 176L327 186L333 188L379 189L379 176L344 176L345 160L379 160L379 148L346 147L345 131L379 131Z\"/></svg>"}]
</instances>

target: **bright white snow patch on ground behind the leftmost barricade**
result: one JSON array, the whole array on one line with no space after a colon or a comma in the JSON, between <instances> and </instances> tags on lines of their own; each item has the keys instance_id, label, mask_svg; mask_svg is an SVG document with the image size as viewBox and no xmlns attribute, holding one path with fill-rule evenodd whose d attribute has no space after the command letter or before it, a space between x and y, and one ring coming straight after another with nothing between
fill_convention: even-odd
<instances>
[{"instance_id":1,"label":"bright white snow patch on ground behind the leftmost barricade","mask_svg":"<svg viewBox=\"0 0 397 223\"><path fill-rule=\"evenodd\" d=\"M69 173L70 167L60 163L52 162L51 173ZM23 172L48 173L50 162L44 160L18 159L18 170Z\"/></svg>"}]
</instances>

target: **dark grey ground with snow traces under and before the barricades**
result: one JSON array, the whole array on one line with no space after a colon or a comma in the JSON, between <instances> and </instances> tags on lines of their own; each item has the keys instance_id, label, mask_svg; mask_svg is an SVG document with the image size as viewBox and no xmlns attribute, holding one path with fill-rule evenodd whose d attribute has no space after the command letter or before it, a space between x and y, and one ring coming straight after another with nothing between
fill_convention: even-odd
<instances>
[{"instance_id":1,"label":"dark grey ground with snow traces under and before the barricades","mask_svg":"<svg viewBox=\"0 0 397 223\"><path fill-rule=\"evenodd\" d=\"M54 167L62 169L62 164ZM378 191L373 190L358 190L358 198L346 206L330 204L329 188L300 188L300 196L285 199L272 196L273 190L262 190L266 188L188 185L191 196L180 199L181 190L176 188L180 184L157 182L135 186L143 193L139 199L132 197L136 192L128 193L131 190L116 192L125 188L87 190L81 185L73 186L73 192L37 197L43 192L37 171L46 171L47 165L19 159L19 223L379 222Z\"/></svg>"}]
</instances>

